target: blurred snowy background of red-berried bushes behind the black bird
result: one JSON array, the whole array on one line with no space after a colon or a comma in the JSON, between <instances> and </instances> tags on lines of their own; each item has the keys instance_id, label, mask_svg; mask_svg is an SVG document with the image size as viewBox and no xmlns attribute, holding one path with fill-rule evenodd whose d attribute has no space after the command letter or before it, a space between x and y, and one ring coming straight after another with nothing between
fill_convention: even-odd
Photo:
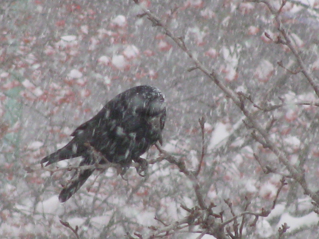
<instances>
[{"instance_id":1,"label":"blurred snowy background of red-berried bushes behind the black bird","mask_svg":"<svg viewBox=\"0 0 319 239\"><path fill-rule=\"evenodd\" d=\"M1 237L318 238L319 1L140 2L162 25L133 0L1 2ZM140 84L166 95L163 149L187 171L153 147L146 177L96 172L59 203L72 172L41 158Z\"/></svg>"}]
</instances>

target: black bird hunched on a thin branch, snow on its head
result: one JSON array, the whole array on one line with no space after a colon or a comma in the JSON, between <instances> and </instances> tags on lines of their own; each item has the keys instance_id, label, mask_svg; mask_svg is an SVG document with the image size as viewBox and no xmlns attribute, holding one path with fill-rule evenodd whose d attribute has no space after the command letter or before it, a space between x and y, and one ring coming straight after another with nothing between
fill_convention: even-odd
<instances>
[{"instance_id":1,"label":"black bird hunched on a thin branch, snow on its head","mask_svg":"<svg viewBox=\"0 0 319 239\"><path fill-rule=\"evenodd\" d=\"M156 87L141 85L130 88L111 99L91 120L71 134L74 138L63 148L43 158L45 166L60 160L82 156L79 164L95 164L92 151L109 162L127 167L132 160L141 162L144 154L157 141L162 144L166 118L164 95ZM89 147L88 147L89 145ZM92 148L94 150L92 150ZM100 157L100 164L106 163ZM94 169L80 170L59 195L68 200L85 183Z\"/></svg>"}]
</instances>

